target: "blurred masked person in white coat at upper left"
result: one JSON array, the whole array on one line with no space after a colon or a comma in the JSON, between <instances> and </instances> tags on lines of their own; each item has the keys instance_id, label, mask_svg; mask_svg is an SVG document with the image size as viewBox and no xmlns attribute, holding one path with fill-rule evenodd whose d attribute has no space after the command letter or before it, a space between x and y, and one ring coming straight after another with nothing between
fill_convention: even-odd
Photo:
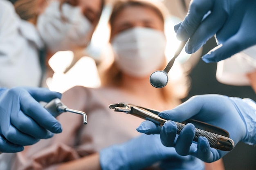
<instances>
[{"instance_id":1,"label":"blurred masked person in white coat at upper left","mask_svg":"<svg viewBox=\"0 0 256 170\"><path fill-rule=\"evenodd\" d=\"M46 86L57 51L85 48L103 0L0 0L0 86ZM61 63L60 63L61 64Z\"/></svg>"}]
</instances>

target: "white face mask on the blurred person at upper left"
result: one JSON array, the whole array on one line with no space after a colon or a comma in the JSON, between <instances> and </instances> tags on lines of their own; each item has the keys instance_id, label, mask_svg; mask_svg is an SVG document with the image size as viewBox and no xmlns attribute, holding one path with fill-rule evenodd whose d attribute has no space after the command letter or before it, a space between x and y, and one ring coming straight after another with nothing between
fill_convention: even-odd
<instances>
[{"instance_id":1,"label":"white face mask on the blurred person at upper left","mask_svg":"<svg viewBox=\"0 0 256 170\"><path fill-rule=\"evenodd\" d=\"M79 7L64 3L61 8L59 1L53 1L38 16L36 26L47 49L55 53L87 46L92 24Z\"/></svg>"}]
</instances>

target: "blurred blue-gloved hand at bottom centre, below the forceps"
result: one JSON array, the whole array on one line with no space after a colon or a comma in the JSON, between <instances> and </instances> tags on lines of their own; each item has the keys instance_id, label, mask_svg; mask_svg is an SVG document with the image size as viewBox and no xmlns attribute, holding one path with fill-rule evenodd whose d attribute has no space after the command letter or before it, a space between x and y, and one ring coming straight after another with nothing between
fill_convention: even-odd
<instances>
[{"instance_id":1,"label":"blurred blue-gloved hand at bottom centre, below the forceps","mask_svg":"<svg viewBox=\"0 0 256 170\"><path fill-rule=\"evenodd\" d=\"M204 163L192 156L180 156L175 148L161 144L159 135L135 137L126 143L113 145L100 151L102 170L141 170L163 161L162 170L204 170ZM166 162L175 166L166 167ZM167 164L168 165L168 164Z\"/></svg>"}]
</instances>

